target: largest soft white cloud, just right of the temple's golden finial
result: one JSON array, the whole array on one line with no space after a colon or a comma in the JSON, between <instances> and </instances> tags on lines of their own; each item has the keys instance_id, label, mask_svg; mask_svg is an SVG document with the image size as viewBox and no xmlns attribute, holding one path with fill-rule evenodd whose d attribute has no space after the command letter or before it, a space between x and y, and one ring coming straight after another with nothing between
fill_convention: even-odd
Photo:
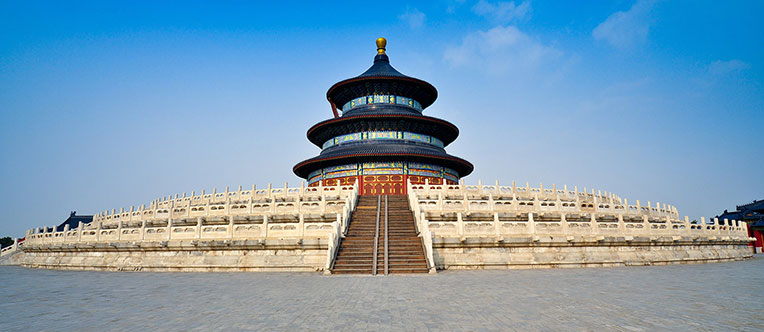
<instances>
[{"instance_id":1,"label":"largest soft white cloud, just right of the temple's golden finial","mask_svg":"<svg viewBox=\"0 0 764 332\"><path fill-rule=\"evenodd\" d=\"M462 44L446 49L444 60L453 67L467 67L491 74L527 72L560 57L562 52L545 46L515 26L497 26L464 37Z\"/></svg>"}]
</instances>

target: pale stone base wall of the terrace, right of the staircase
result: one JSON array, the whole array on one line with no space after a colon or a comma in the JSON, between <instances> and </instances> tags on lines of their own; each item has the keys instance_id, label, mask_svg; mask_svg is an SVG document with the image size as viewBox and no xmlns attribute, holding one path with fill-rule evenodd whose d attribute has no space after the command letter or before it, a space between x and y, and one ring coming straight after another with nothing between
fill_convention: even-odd
<instances>
[{"instance_id":1,"label":"pale stone base wall of the terrace, right of the staircase","mask_svg":"<svg viewBox=\"0 0 764 332\"><path fill-rule=\"evenodd\" d=\"M743 241L689 238L434 238L438 270L648 266L740 261L753 257Z\"/></svg>"}]
</instances>

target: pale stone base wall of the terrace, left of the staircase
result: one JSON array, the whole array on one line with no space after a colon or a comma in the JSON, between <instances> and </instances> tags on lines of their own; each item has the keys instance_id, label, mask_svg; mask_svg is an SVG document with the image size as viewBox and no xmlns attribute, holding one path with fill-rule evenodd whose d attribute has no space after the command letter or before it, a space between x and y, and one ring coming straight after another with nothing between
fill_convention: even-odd
<instances>
[{"instance_id":1,"label":"pale stone base wall of the terrace, left of the staircase","mask_svg":"<svg viewBox=\"0 0 764 332\"><path fill-rule=\"evenodd\" d=\"M75 243L27 246L5 265L91 271L317 272L325 238Z\"/></svg>"}]
</instances>

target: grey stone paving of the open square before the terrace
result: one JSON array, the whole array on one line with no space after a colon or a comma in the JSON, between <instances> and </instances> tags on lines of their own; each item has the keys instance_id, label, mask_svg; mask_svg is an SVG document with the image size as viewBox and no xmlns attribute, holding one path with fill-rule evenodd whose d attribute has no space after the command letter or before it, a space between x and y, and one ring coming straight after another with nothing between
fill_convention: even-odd
<instances>
[{"instance_id":1,"label":"grey stone paving of the open square before the terrace","mask_svg":"<svg viewBox=\"0 0 764 332\"><path fill-rule=\"evenodd\" d=\"M764 256L417 276L0 267L2 331L763 331Z\"/></svg>"}]
</instances>

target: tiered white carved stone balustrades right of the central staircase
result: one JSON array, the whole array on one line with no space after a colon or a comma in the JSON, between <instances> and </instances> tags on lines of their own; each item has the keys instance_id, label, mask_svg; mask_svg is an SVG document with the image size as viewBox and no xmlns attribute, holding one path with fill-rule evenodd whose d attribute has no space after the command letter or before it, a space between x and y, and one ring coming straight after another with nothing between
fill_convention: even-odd
<instances>
[{"instance_id":1,"label":"tiered white carved stone balustrades right of the central staircase","mask_svg":"<svg viewBox=\"0 0 764 332\"><path fill-rule=\"evenodd\" d=\"M498 190L496 188L499 188ZM420 233L431 231L437 237L542 236L564 237L568 241L596 240L605 237L706 238L721 241L748 241L745 222L705 218L691 223L678 219L672 206L658 208L639 203L631 208L620 205L615 195L579 195L573 191L546 192L540 188L512 186L411 185L409 200ZM530 195L523 193L530 192ZM570 197L566 199L565 196ZM554 198L554 199L552 199ZM575 204L575 205L573 205ZM573 206L571 206L573 205ZM627 208L628 207L628 208Z\"/></svg>"}]
</instances>

